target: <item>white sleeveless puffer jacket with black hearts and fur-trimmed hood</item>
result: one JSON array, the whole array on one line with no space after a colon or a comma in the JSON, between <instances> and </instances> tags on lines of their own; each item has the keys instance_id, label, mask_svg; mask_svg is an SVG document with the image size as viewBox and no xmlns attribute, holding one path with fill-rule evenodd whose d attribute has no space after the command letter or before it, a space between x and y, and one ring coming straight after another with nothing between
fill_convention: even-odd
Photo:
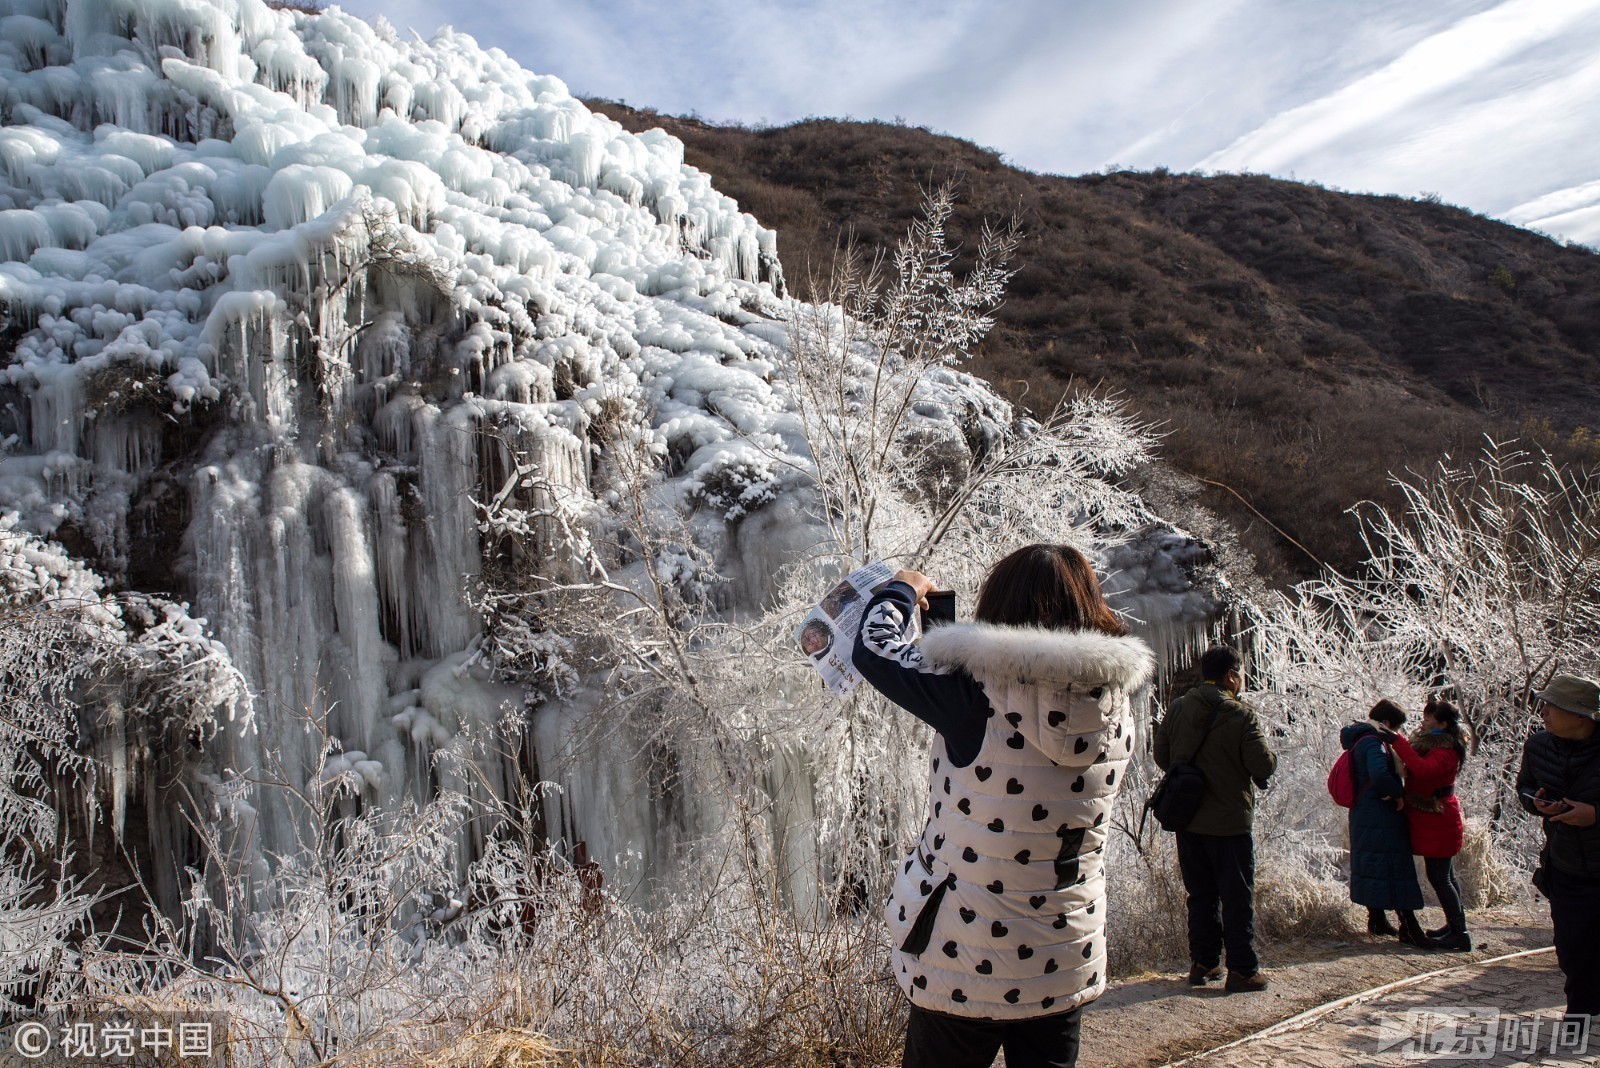
<instances>
[{"instance_id":1,"label":"white sleeveless puffer jacket with black hearts and fur-trimmed hood","mask_svg":"<svg viewBox=\"0 0 1600 1068\"><path fill-rule=\"evenodd\" d=\"M918 648L981 683L994 715L966 767L933 743L931 815L885 907L899 985L923 1009L997 1020L1093 1001L1130 694L1154 657L1138 638L986 624L941 627Z\"/></svg>"}]
</instances>

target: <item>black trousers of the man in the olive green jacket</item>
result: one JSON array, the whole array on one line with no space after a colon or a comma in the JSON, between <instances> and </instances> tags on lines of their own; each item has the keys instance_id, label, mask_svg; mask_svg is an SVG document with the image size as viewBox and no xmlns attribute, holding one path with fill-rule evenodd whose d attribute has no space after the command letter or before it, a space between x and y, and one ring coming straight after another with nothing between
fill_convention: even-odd
<instances>
[{"instance_id":1,"label":"black trousers of the man in the olive green jacket","mask_svg":"<svg viewBox=\"0 0 1600 1068\"><path fill-rule=\"evenodd\" d=\"M1254 975L1256 841L1250 835L1178 831L1178 867L1189 891L1189 961Z\"/></svg>"}]
</instances>

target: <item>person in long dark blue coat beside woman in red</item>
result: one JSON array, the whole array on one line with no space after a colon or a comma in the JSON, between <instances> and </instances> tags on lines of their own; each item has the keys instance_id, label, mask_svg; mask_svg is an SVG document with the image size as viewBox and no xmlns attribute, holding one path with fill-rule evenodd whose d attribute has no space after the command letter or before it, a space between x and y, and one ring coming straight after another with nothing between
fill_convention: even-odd
<instances>
[{"instance_id":1,"label":"person in long dark blue coat beside woman in red","mask_svg":"<svg viewBox=\"0 0 1600 1068\"><path fill-rule=\"evenodd\" d=\"M1365 723L1339 731L1339 745L1350 750L1355 804L1350 807L1350 900L1365 905L1366 929L1398 934L1418 948L1434 948L1416 910L1422 887L1411 862L1411 830L1405 815L1405 783L1384 740L1382 729L1398 731L1405 711L1389 700L1373 705ZM1389 926L1387 910L1400 915L1400 931Z\"/></svg>"}]
</instances>

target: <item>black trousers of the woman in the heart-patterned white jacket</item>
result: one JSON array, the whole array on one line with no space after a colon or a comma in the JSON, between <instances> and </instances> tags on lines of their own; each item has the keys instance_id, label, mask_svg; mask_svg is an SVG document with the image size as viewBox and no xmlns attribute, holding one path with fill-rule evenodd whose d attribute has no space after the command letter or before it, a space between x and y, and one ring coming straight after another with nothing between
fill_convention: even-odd
<instances>
[{"instance_id":1,"label":"black trousers of the woman in the heart-patterned white jacket","mask_svg":"<svg viewBox=\"0 0 1600 1068\"><path fill-rule=\"evenodd\" d=\"M1074 1068L1083 1010L1030 1020L968 1020L910 1007L902 1068L989 1068L1005 1049L1006 1068Z\"/></svg>"}]
</instances>

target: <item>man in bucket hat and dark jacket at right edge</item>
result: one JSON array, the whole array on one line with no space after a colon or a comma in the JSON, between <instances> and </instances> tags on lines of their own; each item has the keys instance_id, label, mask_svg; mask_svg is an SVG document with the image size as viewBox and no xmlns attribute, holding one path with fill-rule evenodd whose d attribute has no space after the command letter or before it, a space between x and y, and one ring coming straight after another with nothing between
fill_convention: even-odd
<instances>
[{"instance_id":1,"label":"man in bucket hat and dark jacket at right edge","mask_svg":"<svg viewBox=\"0 0 1600 1068\"><path fill-rule=\"evenodd\" d=\"M1550 899L1566 1014L1600 1014L1600 683L1557 675L1533 695L1544 729L1522 750L1517 796L1544 817L1534 886Z\"/></svg>"}]
</instances>

